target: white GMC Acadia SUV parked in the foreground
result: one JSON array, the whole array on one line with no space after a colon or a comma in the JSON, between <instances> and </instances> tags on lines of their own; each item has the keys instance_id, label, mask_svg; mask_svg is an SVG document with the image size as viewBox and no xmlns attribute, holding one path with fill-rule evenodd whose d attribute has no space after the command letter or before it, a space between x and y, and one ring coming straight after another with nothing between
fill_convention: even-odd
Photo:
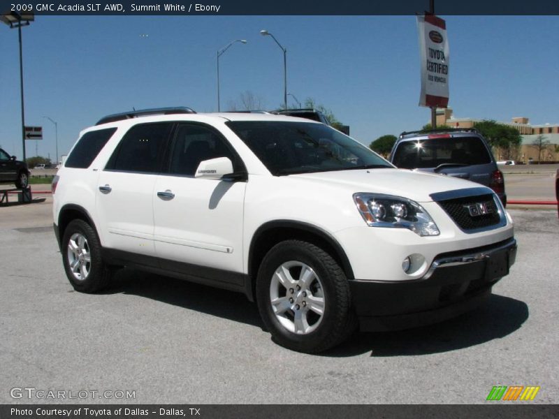
<instances>
[{"instance_id":1,"label":"white GMC Acadia SUV parked in the foreground","mask_svg":"<svg viewBox=\"0 0 559 419\"><path fill-rule=\"evenodd\" d=\"M52 189L76 290L99 291L130 266L238 291L277 343L308 353L357 325L410 328L472 309L516 256L491 189L399 170L296 117L111 115L81 133Z\"/></svg>"}]
</instances>

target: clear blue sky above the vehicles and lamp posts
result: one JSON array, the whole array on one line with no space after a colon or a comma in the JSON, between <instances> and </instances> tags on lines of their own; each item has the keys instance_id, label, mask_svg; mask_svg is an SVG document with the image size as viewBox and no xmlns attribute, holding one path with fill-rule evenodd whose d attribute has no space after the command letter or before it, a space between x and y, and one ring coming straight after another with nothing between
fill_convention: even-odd
<instances>
[{"instance_id":1,"label":"clear blue sky above the vehicles and lamp posts","mask_svg":"<svg viewBox=\"0 0 559 419\"><path fill-rule=\"evenodd\" d=\"M532 124L559 122L559 18L442 16L450 43L450 101L455 117ZM132 107L187 105L222 110L251 91L263 107L288 91L311 97L368 144L430 120L419 101L414 16L38 16L23 29L26 125L43 126L38 154L66 154L80 130ZM145 36L147 35L147 36ZM22 156L17 30L0 27L0 145ZM294 105L293 99L288 98ZM27 156L35 155L27 142Z\"/></svg>"}]
</instances>

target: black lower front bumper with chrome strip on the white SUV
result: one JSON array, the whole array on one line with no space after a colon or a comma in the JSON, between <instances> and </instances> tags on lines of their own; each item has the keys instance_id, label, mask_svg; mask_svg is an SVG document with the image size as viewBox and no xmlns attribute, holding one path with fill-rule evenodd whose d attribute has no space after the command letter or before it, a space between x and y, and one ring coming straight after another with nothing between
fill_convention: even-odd
<instances>
[{"instance_id":1,"label":"black lower front bumper with chrome strip on the white SUV","mask_svg":"<svg viewBox=\"0 0 559 419\"><path fill-rule=\"evenodd\" d=\"M361 330L382 331L438 323L474 309L509 273L516 240L442 253L420 279L349 281Z\"/></svg>"}]
</instances>

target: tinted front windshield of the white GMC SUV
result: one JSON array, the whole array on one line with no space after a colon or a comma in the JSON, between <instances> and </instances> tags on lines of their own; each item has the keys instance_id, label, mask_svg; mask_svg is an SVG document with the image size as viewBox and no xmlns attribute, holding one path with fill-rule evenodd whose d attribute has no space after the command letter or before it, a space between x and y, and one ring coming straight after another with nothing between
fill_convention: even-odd
<instances>
[{"instance_id":1,"label":"tinted front windshield of the white GMC SUV","mask_svg":"<svg viewBox=\"0 0 559 419\"><path fill-rule=\"evenodd\" d=\"M276 176L393 167L364 145L324 124L274 121L226 124Z\"/></svg>"}]
</instances>

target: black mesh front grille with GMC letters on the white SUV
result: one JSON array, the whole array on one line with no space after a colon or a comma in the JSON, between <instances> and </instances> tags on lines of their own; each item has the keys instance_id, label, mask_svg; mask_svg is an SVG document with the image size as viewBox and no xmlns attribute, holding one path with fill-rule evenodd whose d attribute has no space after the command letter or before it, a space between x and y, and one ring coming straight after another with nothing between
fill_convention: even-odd
<instances>
[{"instance_id":1,"label":"black mesh front grille with GMC letters on the white SUV","mask_svg":"<svg viewBox=\"0 0 559 419\"><path fill-rule=\"evenodd\" d=\"M489 193L440 200L437 203L465 231L491 228L502 221L499 207Z\"/></svg>"}]
</instances>

